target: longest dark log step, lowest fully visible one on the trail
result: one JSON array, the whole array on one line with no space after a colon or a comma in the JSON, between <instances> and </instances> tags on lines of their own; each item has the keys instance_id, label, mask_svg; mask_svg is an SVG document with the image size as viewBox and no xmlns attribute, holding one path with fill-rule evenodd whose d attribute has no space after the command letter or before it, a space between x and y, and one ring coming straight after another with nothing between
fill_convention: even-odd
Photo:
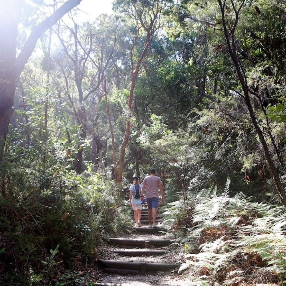
<instances>
[{"instance_id":1,"label":"longest dark log step, lowest fully visible one on the trail","mask_svg":"<svg viewBox=\"0 0 286 286\"><path fill-rule=\"evenodd\" d=\"M128 269L137 270L141 274L145 274L147 271L169 271L177 268L178 264L169 263L144 263L144 262L133 262L133 261L118 261L118 260L105 260L99 259L98 263L100 266L107 269Z\"/></svg>"}]
</instances>

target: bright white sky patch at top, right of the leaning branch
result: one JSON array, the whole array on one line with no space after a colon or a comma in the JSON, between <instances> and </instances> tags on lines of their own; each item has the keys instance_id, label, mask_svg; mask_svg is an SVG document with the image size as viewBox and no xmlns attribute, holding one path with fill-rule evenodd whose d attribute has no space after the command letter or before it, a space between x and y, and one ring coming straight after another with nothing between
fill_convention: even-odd
<instances>
[{"instance_id":1,"label":"bright white sky patch at top, right of the leaning branch","mask_svg":"<svg viewBox=\"0 0 286 286\"><path fill-rule=\"evenodd\" d=\"M82 14L82 21L94 21L100 14L112 14L112 0L82 0L78 8L86 13Z\"/></svg>"}]
</instances>

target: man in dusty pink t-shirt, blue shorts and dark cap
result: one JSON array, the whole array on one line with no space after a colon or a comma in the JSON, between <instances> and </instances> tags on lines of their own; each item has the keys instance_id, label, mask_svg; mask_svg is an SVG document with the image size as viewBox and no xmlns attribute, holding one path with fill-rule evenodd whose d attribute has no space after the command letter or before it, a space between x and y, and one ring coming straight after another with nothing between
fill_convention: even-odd
<instances>
[{"instance_id":1,"label":"man in dusty pink t-shirt, blue shorts and dark cap","mask_svg":"<svg viewBox=\"0 0 286 286\"><path fill-rule=\"evenodd\" d=\"M164 190L162 186L161 179L156 176L156 170L150 170L150 176L146 176L143 180L142 191L141 191L141 200L143 200L144 191L146 190L146 201L148 204L148 227L157 227L156 225L156 215L157 215L157 206L158 206L158 188L161 193L161 202L165 201L164 199ZM153 224L152 220L153 219Z\"/></svg>"}]
</instances>

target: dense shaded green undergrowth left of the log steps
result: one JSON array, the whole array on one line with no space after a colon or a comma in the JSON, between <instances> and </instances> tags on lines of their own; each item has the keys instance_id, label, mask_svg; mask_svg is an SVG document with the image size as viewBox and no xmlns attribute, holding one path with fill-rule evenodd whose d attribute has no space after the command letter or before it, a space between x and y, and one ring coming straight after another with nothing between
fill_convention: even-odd
<instances>
[{"instance_id":1,"label":"dense shaded green undergrowth left of the log steps","mask_svg":"<svg viewBox=\"0 0 286 286\"><path fill-rule=\"evenodd\" d=\"M52 150L19 150L0 170L0 284L79 285L67 271L96 268L104 237L130 224L118 188L91 164L76 174Z\"/></svg>"}]
</instances>

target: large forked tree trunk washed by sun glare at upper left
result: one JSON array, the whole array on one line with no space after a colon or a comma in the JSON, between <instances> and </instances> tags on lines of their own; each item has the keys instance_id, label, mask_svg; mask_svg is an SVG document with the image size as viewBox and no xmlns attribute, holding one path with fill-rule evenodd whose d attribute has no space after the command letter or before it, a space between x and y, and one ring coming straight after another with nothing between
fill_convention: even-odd
<instances>
[{"instance_id":1,"label":"large forked tree trunk washed by sun glare at upper left","mask_svg":"<svg viewBox=\"0 0 286 286\"><path fill-rule=\"evenodd\" d=\"M66 1L53 15L35 26L17 59L16 41L21 1L0 1L0 162L10 123L16 81L25 63L31 56L39 37L81 1Z\"/></svg>"}]
</instances>

